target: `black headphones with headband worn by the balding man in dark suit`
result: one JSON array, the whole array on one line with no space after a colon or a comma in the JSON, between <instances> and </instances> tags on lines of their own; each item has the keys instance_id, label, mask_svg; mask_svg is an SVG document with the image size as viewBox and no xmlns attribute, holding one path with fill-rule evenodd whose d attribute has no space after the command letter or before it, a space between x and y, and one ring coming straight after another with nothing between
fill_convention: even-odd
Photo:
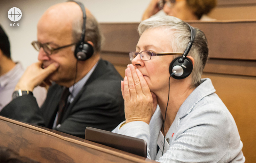
<instances>
[{"instance_id":1,"label":"black headphones with headband worn by the balding man in dark suit","mask_svg":"<svg viewBox=\"0 0 256 163\"><path fill-rule=\"evenodd\" d=\"M89 59L94 50L91 44L84 42L84 37L85 37L85 23L86 23L86 13L85 13L85 8L84 5L81 2L77 1L68 1L68 2L75 2L77 3L82 11L83 11L83 29L82 29L82 34L79 43L76 44L76 49L75 49L75 57L79 61L85 61Z\"/></svg>"}]
</instances>

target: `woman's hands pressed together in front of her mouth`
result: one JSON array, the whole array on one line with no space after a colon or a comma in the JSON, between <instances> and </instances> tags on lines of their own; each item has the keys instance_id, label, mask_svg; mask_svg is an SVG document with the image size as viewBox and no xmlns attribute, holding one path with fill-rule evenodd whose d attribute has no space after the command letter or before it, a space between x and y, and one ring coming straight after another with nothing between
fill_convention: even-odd
<instances>
[{"instance_id":1,"label":"woman's hands pressed together in front of her mouth","mask_svg":"<svg viewBox=\"0 0 256 163\"><path fill-rule=\"evenodd\" d=\"M146 80L140 70L130 64L125 70L124 81L121 81L124 98L124 112L126 123L143 121L149 124L156 110L157 99L151 93Z\"/></svg>"}]
</instances>

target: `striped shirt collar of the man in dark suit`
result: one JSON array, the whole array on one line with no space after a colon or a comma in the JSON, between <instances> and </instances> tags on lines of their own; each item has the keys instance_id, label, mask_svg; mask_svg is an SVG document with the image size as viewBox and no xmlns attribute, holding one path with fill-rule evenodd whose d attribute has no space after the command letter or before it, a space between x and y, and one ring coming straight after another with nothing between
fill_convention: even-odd
<instances>
[{"instance_id":1,"label":"striped shirt collar of the man in dark suit","mask_svg":"<svg viewBox=\"0 0 256 163\"><path fill-rule=\"evenodd\" d=\"M90 78L90 76L92 75L92 72L95 70L96 66L98 65L99 61L97 63L94 64L94 66L92 67L92 69L84 76L84 78L82 78L81 80L79 80L78 82L76 82L74 85L70 86L68 88L70 95L68 97L68 102L72 102L74 100L74 98L76 97L76 95L82 90L83 86L85 85L85 83L87 82L87 80ZM73 89L74 88L74 89Z\"/></svg>"}]
</instances>

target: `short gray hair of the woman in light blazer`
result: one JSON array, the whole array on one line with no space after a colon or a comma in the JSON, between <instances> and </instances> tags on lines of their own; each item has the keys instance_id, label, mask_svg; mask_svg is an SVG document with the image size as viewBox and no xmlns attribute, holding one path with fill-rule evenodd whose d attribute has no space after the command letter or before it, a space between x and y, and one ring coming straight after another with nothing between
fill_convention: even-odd
<instances>
[{"instance_id":1,"label":"short gray hair of the woman in light blazer","mask_svg":"<svg viewBox=\"0 0 256 163\"><path fill-rule=\"evenodd\" d=\"M139 35L152 28L163 28L170 35L170 46L173 52L184 52L190 41L189 26L182 20L172 16L156 16L144 20L138 27ZM208 45L204 33L196 28L196 37L188 53L195 60L192 75L192 86L200 84L201 75L208 57ZM176 57L176 56L174 56Z\"/></svg>"}]
</instances>

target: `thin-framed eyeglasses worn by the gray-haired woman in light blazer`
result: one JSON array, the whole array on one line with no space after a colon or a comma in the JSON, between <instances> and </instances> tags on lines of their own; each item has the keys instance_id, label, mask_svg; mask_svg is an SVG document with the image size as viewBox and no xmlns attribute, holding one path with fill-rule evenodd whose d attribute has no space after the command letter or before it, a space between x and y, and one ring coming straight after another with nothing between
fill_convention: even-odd
<instances>
[{"instance_id":1,"label":"thin-framed eyeglasses worn by the gray-haired woman in light blazer","mask_svg":"<svg viewBox=\"0 0 256 163\"><path fill-rule=\"evenodd\" d=\"M142 51L142 52L130 52L129 56L130 56L130 60L132 61L133 58L135 58L138 54L140 54L140 59L144 60L144 61L148 61L151 59L151 56L166 56L166 55L183 55L183 53L174 53L174 52L163 52L163 53L154 53L151 51Z\"/></svg>"}]
</instances>

